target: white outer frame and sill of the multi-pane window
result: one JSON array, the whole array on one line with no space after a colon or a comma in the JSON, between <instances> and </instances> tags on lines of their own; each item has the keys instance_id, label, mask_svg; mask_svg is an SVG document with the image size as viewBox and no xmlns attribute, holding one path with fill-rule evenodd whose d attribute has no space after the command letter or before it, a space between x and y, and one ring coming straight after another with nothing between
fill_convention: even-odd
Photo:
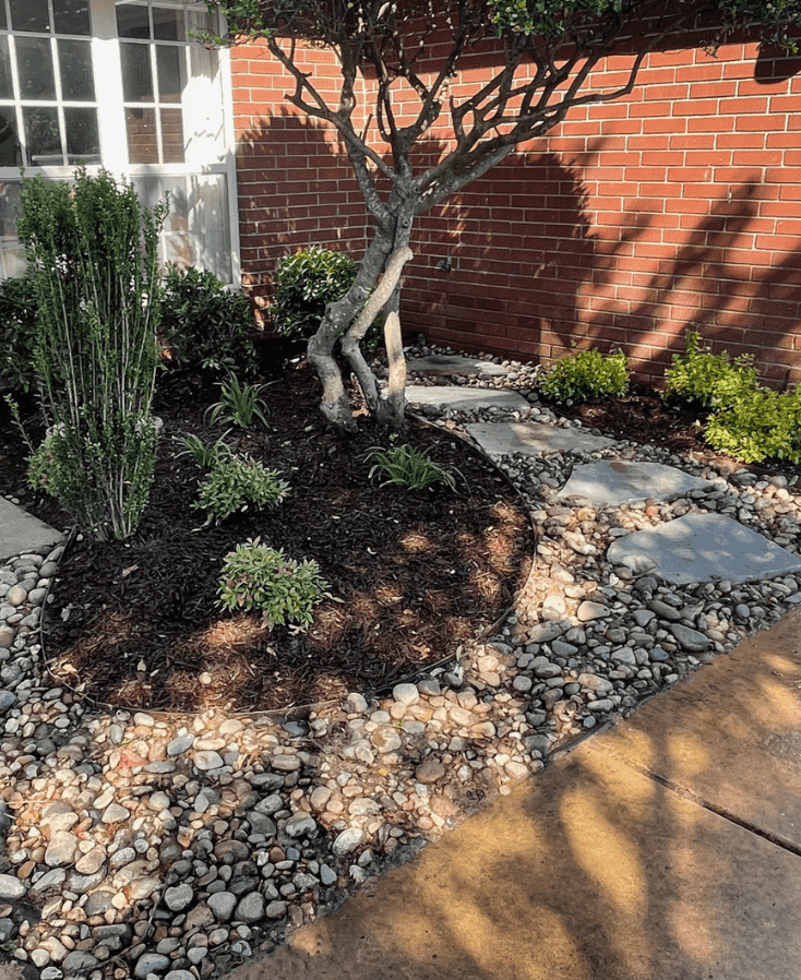
<instances>
[{"instance_id":1,"label":"white outer frame and sill of the multi-pane window","mask_svg":"<svg viewBox=\"0 0 801 980\"><path fill-rule=\"evenodd\" d=\"M131 2L131 0L127 0ZM135 2L135 0L133 0ZM163 7L184 7L181 0L154 0ZM194 0L198 9L205 10L201 0ZM5 4L5 0L0 0ZM223 88L222 118L215 118L214 124L220 131L217 141L215 159L198 159L199 146L195 151L191 147L193 132L186 126L187 120L196 122L198 116L204 111L214 111L212 100L207 99L205 106L198 105L199 88L202 88L202 80L188 79L186 89L184 108L184 145L190 145L187 153L187 162L182 164L130 164L128 158L128 134L123 110L122 94L122 65L120 59L119 39L117 37L117 17L115 0L88 0L92 59L95 70L95 95L97 105L98 130L100 138L100 157L103 169L108 170L115 177L123 179L156 177L169 179L175 177L177 182L192 177L220 175L225 178L227 189L227 220L230 244L230 279L239 286L241 278L241 259L239 247L239 206L237 192L237 169L234 135L234 105L230 81L230 55L227 49L218 51L219 71ZM57 73L58 74L58 73ZM155 80L154 80L155 81ZM57 82L58 84L58 82ZM210 107L211 110L210 110ZM217 117L219 113L216 113ZM202 148L208 148L210 141ZM87 166L87 172L97 172L98 165ZM70 180L74 176L73 166L27 166L26 176L41 174L51 180ZM20 181L22 171L19 167L0 167L0 183ZM190 232L191 234L191 232ZM1 271L0 271L1 274Z\"/></svg>"}]
</instances>

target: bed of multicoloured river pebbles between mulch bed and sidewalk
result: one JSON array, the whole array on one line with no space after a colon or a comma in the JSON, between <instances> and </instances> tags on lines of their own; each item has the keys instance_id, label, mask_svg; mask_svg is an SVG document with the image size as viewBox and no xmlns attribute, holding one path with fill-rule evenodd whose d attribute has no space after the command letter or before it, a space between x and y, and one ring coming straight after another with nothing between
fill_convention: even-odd
<instances>
[{"instance_id":1,"label":"bed of multicoloured river pebbles between mulch bed and sidewalk","mask_svg":"<svg viewBox=\"0 0 801 980\"><path fill-rule=\"evenodd\" d=\"M531 370L515 367L527 391ZM531 413L559 421L536 403ZM7 562L0 942L41 980L213 980L231 953L276 945L344 889L441 836L474 780L507 792L555 749L696 669L700 655L801 602L799 575L679 587L603 558L614 537L704 507L742 512L799 551L801 505L785 478L730 478L659 447L605 452L670 462L713 486L648 507L566 506L555 494L575 463L594 457L501 459L541 531L512 616L465 644L458 664L383 697L350 692L308 719L103 712L50 690L39 582L57 574L61 549ZM127 745L144 753L141 768L119 767Z\"/></svg>"}]
</instances>

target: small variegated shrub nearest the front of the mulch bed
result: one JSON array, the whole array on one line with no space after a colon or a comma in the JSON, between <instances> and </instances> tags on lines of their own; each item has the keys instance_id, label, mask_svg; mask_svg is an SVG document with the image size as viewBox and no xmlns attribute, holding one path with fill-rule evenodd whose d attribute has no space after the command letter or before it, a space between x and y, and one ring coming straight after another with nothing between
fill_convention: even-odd
<instances>
[{"instance_id":1,"label":"small variegated shrub nearest the front of the mulch bed","mask_svg":"<svg viewBox=\"0 0 801 980\"><path fill-rule=\"evenodd\" d=\"M223 565L219 602L235 612L260 612L271 623L308 625L312 609L328 588L315 561L297 562L259 538L238 545Z\"/></svg>"}]
</instances>

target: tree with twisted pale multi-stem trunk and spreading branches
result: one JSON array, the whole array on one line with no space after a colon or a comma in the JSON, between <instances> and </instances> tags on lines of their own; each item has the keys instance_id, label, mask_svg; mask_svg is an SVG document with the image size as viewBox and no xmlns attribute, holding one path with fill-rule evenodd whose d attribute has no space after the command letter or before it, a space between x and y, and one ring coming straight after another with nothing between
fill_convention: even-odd
<instances>
[{"instance_id":1,"label":"tree with twisted pale multi-stem trunk and spreading branches","mask_svg":"<svg viewBox=\"0 0 801 980\"><path fill-rule=\"evenodd\" d=\"M545 135L575 106L630 93L646 56L667 37L695 31L715 49L731 32L758 26L791 46L801 0L207 0L228 25L217 41L263 38L287 70L288 100L333 126L345 145L373 223L354 285L331 303L309 340L323 383L322 410L342 429L354 419L334 358L337 340L370 411L402 427L406 364L398 318L400 276L413 258L415 219L481 177L524 142ZM332 50L335 97L302 68L299 45ZM598 62L626 57L620 84L590 88ZM466 94L462 74L491 67ZM327 80L326 80L327 81ZM457 94L458 93L458 94ZM367 126L366 123L371 123ZM374 132L371 132L374 130ZM440 153L421 152L431 136ZM360 350L383 309L386 393Z\"/></svg>"}]
</instances>

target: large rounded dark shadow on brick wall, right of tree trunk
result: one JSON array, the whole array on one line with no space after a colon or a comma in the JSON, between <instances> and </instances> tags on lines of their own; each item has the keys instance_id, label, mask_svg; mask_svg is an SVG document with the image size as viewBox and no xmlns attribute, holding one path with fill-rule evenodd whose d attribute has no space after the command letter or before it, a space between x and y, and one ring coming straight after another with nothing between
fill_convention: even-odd
<instances>
[{"instance_id":1,"label":"large rounded dark shadow on brick wall, right of tree trunk","mask_svg":"<svg viewBox=\"0 0 801 980\"><path fill-rule=\"evenodd\" d=\"M509 157L420 219L407 326L525 358L567 350L596 263L586 203L577 171L555 154Z\"/></svg>"}]
</instances>

